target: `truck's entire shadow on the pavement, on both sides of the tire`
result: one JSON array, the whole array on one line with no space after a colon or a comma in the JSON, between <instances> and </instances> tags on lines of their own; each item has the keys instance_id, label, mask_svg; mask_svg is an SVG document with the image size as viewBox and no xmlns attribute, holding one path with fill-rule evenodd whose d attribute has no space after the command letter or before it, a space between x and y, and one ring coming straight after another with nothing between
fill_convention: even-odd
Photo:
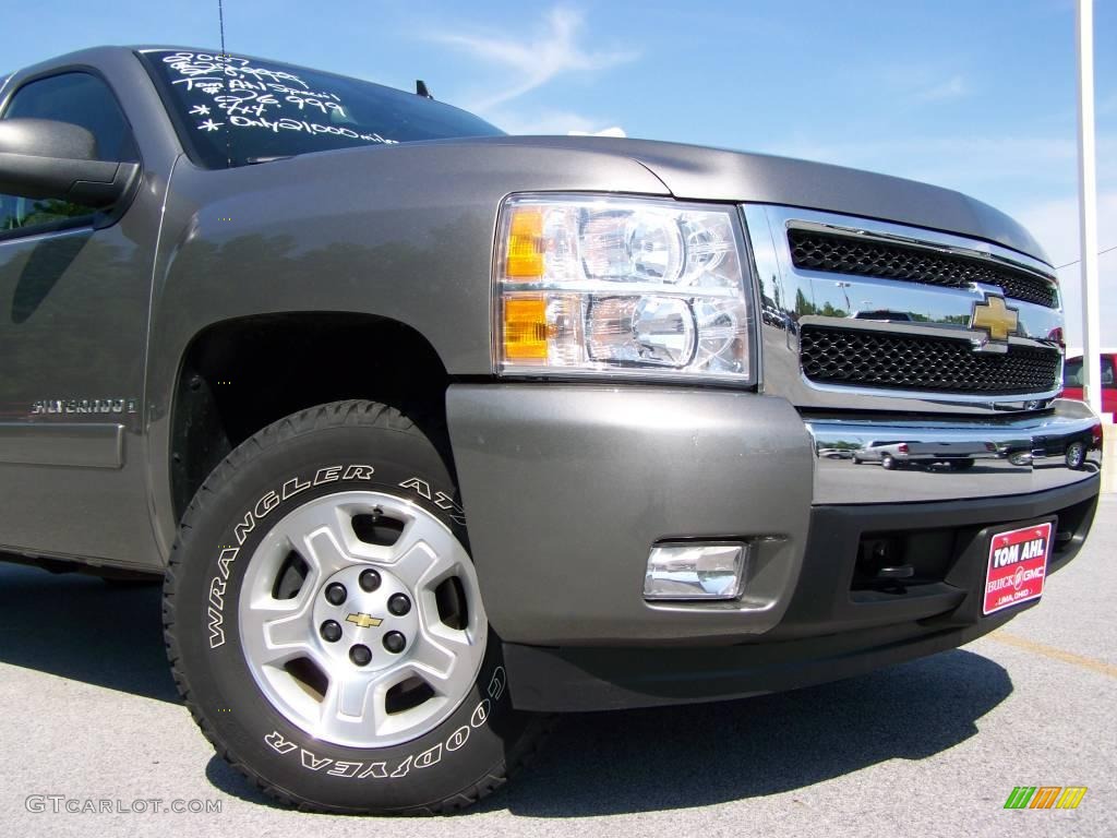
<instances>
[{"instance_id":1,"label":"truck's entire shadow on the pavement, on both sides of the tire","mask_svg":"<svg viewBox=\"0 0 1117 838\"><path fill-rule=\"evenodd\" d=\"M179 701L156 585L113 588L0 564L0 637L2 663ZM480 810L593 817L794 791L953 747L1011 693L1001 666L954 650L781 695L569 715L535 763ZM206 773L228 794L274 804L217 756Z\"/></svg>"}]
</instances>

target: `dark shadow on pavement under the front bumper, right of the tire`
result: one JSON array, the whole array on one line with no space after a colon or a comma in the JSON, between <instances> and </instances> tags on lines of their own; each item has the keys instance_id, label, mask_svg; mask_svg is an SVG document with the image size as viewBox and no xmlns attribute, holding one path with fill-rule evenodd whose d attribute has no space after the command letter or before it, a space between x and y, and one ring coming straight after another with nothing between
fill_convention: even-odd
<instances>
[{"instance_id":1,"label":"dark shadow on pavement under the front bumper, right of the tire","mask_svg":"<svg viewBox=\"0 0 1117 838\"><path fill-rule=\"evenodd\" d=\"M1003 667L953 650L792 693L570 715L535 764L483 808L576 818L794 791L953 747L1011 693Z\"/></svg>"}]
</instances>

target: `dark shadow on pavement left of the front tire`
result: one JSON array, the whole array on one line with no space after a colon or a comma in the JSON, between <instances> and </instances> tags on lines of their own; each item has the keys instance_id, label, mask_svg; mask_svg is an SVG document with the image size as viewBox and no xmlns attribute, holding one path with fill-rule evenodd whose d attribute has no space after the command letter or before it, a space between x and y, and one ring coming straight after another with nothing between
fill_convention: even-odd
<instances>
[{"instance_id":1,"label":"dark shadow on pavement left of the front tire","mask_svg":"<svg viewBox=\"0 0 1117 838\"><path fill-rule=\"evenodd\" d=\"M0 563L0 663L179 702L163 650L157 584Z\"/></svg>"}]
</instances>

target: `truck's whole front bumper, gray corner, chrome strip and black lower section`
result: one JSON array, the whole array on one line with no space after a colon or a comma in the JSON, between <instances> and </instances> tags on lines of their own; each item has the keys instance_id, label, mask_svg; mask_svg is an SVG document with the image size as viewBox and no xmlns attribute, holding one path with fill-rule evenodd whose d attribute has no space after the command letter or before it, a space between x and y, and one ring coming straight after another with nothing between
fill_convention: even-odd
<instances>
[{"instance_id":1,"label":"truck's whole front bumper, gray corner, chrome strip and black lower section","mask_svg":"<svg viewBox=\"0 0 1117 838\"><path fill-rule=\"evenodd\" d=\"M747 695L957 646L1020 610L981 616L990 530L1057 518L1058 570L1099 489L1100 427L1077 402L881 420L753 393L546 383L455 384L447 409L489 622L532 710ZM965 472L855 465L882 440L992 456ZM646 601L651 546L679 540L747 543L741 598ZM918 583L880 584L866 559L878 544Z\"/></svg>"}]
</instances>

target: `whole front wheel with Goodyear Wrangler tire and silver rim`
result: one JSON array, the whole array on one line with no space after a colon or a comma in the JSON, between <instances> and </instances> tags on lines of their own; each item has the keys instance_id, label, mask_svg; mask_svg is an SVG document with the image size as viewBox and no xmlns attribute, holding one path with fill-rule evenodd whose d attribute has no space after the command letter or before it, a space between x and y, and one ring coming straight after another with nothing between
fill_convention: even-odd
<instances>
[{"instance_id":1,"label":"whole front wheel with Goodyear Wrangler tire and silver rim","mask_svg":"<svg viewBox=\"0 0 1117 838\"><path fill-rule=\"evenodd\" d=\"M457 498L431 439L367 401L269 426L194 496L164 583L168 655L202 732L265 792L452 811L551 726L512 707Z\"/></svg>"}]
</instances>

